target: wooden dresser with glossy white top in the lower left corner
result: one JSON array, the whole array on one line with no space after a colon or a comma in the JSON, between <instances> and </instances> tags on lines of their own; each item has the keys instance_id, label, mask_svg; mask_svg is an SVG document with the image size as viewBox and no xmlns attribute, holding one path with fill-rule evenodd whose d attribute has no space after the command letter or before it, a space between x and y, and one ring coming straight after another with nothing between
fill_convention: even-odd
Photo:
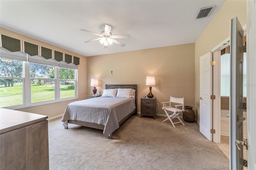
<instances>
[{"instance_id":1,"label":"wooden dresser with glossy white top in the lower left corner","mask_svg":"<svg viewBox=\"0 0 256 170\"><path fill-rule=\"evenodd\" d=\"M48 170L48 117L0 108L0 169Z\"/></svg>"}]
</instances>

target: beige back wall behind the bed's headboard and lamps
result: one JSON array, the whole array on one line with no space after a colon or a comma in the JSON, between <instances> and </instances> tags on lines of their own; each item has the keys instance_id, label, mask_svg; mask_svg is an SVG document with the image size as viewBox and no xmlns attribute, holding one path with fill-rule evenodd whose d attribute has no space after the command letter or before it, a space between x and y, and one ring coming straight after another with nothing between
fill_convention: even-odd
<instances>
[{"instance_id":1,"label":"beige back wall behind the bed's headboard and lamps","mask_svg":"<svg viewBox=\"0 0 256 170\"><path fill-rule=\"evenodd\" d=\"M140 112L140 97L149 92L145 84L150 75L156 79L152 93L160 114L164 114L161 102L169 101L170 95L184 97L185 105L194 107L194 43L87 58L88 95L92 95L91 78L99 79L100 95L105 84L137 84Z\"/></svg>"}]
</instances>

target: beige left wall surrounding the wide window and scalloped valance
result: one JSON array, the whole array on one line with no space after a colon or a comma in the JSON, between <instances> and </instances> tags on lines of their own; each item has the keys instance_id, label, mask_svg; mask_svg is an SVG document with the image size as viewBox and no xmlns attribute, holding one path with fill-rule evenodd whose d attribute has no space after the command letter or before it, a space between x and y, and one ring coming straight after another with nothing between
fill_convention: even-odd
<instances>
[{"instance_id":1,"label":"beige left wall surrounding the wide window and scalloped valance","mask_svg":"<svg viewBox=\"0 0 256 170\"><path fill-rule=\"evenodd\" d=\"M60 51L63 53L67 53L69 55L74 55L76 57L80 58L80 65L78 65L78 99L77 100L82 100L86 99L87 96L87 58L79 55L77 53L62 49L60 47L56 47L54 45L50 45L48 43L44 43L38 40L34 40L32 38L17 34L15 32L11 32L9 30L6 30L4 28L0 28L0 34L4 34L5 36L10 36L13 38L16 38L18 40L23 40L29 43L33 43L36 45L40 45L49 49L53 49L56 51ZM47 115L48 118L54 117L57 115L61 115L64 113L66 106L68 103L71 103L76 100L70 100L70 101L63 101L63 102L57 102L57 103L51 103L51 104L45 104L45 105L39 105L39 106L33 106L33 107L26 107L22 109L17 109L19 111L25 111L25 112L30 112L30 113L37 113L41 115Z\"/></svg>"}]
</instances>

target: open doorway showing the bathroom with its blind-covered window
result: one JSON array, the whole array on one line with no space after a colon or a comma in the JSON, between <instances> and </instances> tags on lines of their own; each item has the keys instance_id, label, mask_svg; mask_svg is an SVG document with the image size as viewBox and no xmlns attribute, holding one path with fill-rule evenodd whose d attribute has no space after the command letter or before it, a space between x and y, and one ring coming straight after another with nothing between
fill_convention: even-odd
<instances>
[{"instance_id":1,"label":"open doorway showing the bathroom with its blind-covered window","mask_svg":"<svg viewBox=\"0 0 256 170\"><path fill-rule=\"evenodd\" d=\"M216 117L220 117L220 128L218 130L218 136L229 136L229 96L230 96L230 43L227 41L223 45L216 49L213 53L214 59L216 59L215 71L213 74L213 83L218 88L213 88L213 94L216 94L216 102L219 103L216 109ZM243 105L244 105L244 118L246 120L246 36L244 36L244 63L243 63ZM215 79L214 79L215 77ZM216 83L217 82L217 83ZM218 113L218 114L217 114ZM218 121L216 119L216 121ZM214 124L214 123L213 123ZM219 123L218 123L219 124ZM244 138L246 138L246 121L244 121ZM215 141L218 143L218 141Z\"/></svg>"}]
</instances>

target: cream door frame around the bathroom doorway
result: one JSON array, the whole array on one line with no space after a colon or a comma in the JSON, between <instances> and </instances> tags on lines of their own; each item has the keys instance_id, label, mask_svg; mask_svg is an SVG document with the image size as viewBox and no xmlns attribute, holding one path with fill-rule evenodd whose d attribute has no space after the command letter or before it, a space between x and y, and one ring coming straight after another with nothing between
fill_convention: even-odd
<instances>
[{"instance_id":1,"label":"cream door frame around the bathroom doorway","mask_svg":"<svg viewBox=\"0 0 256 170\"><path fill-rule=\"evenodd\" d=\"M246 24L243 26L244 36L246 36ZM220 143L220 58L218 53L220 49L227 47L230 44L230 36L224 39L221 43L212 48L212 57L216 61L215 69L212 70L212 94L215 95L216 99L212 103L212 128L215 129L215 133L212 136L212 141Z\"/></svg>"}]
</instances>

